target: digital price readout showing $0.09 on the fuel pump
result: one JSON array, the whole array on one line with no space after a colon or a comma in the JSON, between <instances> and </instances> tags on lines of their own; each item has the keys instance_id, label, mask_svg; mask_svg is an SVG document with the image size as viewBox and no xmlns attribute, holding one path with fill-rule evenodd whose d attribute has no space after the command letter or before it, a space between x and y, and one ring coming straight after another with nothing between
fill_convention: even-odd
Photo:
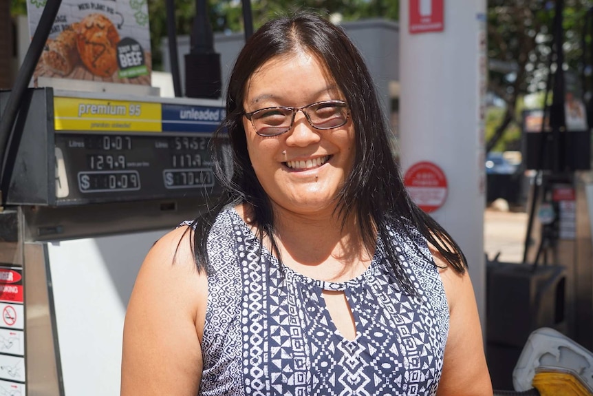
<instances>
[{"instance_id":1,"label":"digital price readout showing $0.09 on the fuel pump","mask_svg":"<svg viewBox=\"0 0 593 396\"><path fill-rule=\"evenodd\" d=\"M82 193L135 191L140 189L138 171L78 172L78 189Z\"/></svg>"}]
</instances>

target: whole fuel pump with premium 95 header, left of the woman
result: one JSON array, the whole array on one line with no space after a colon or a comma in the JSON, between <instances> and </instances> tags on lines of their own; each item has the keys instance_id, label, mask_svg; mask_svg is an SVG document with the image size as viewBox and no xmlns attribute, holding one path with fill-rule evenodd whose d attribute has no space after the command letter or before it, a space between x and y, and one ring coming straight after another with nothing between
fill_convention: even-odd
<instances>
[{"instance_id":1,"label":"whole fuel pump with premium 95 header, left of the woman","mask_svg":"<svg viewBox=\"0 0 593 396\"><path fill-rule=\"evenodd\" d=\"M59 3L48 0L44 14ZM40 25L49 29L56 14L48 18ZM32 42L45 42L41 30ZM226 149L211 150L224 107L105 84L28 88L41 50L30 52L21 93L17 83L0 92L0 120L10 124L0 136L0 394L118 395L142 259L217 197L215 171L231 171Z\"/></svg>"}]
</instances>

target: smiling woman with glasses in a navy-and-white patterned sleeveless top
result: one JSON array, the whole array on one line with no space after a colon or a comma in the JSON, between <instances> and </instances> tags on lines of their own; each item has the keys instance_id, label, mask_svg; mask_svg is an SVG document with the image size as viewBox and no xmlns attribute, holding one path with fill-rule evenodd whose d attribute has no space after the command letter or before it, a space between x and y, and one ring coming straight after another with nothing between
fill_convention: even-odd
<instances>
[{"instance_id":1,"label":"smiling woman with glasses in a navy-and-white patterned sleeveless top","mask_svg":"<svg viewBox=\"0 0 593 396\"><path fill-rule=\"evenodd\" d=\"M465 258L409 198L343 30L266 23L226 103L233 174L144 260L122 396L491 395Z\"/></svg>"}]
</instances>

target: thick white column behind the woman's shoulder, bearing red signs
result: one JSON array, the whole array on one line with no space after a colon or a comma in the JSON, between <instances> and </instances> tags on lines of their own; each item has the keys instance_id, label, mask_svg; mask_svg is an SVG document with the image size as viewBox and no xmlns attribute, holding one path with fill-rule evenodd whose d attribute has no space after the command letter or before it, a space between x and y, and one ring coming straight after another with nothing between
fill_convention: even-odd
<instances>
[{"instance_id":1,"label":"thick white column behind the woman's shoulder, bearing red signs","mask_svg":"<svg viewBox=\"0 0 593 396\"><path fill-rule=\"evenodd\" d=\"M420 161L444 171L447 198L431 216L451 233L468 259L485 329L486 0L429 0L431 12L438 9L437 1L444 2L444 29L410 34L410 7L422 1L400 1L402 171ZM424 18L426 10L424 6L417 12Z\"/></svg>"}]
</instances>

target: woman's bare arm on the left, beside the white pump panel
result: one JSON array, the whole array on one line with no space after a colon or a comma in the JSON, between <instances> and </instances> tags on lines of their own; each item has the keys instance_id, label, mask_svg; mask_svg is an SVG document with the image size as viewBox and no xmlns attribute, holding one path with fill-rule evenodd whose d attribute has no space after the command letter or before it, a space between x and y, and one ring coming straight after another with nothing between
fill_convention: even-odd
<instances>
[{"instance_id":1,"label":"woman's bare arm on the left, beside the white pump panel","mask_svg":"<svg viewBox=\"0 0 593 396\"><path fill-rule=\"evenodd\" d=\"M197 395L207 285L185 230L158 240L136 278L124 325L122 396Z\"/></svg>"}]
</instances>

